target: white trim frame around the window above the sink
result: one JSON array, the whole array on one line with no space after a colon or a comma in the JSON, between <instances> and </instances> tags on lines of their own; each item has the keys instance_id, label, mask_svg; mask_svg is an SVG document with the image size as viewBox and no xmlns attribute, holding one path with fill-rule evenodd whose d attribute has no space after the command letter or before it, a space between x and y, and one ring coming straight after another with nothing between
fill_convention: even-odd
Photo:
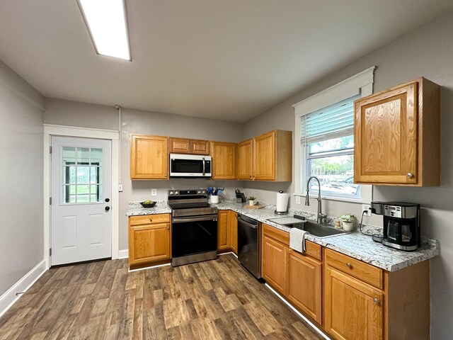
<instances>
[{"instance_id":1,"label":"white trim frame around the window above the sink","mask_svg":"<svg viewBox=\"0 0 453 340\"><path fill-rule=\"evenodd\" d=\"M306 187L306 148L301 147L301 134L300 134L300 121L302 116L307 115L311 112L321 110L340 101L344 101L347 98L360 95L369 96L373 93L374 84L374 70L375 66L369 67L364 71L355 74L354 76L340 81L340 83L325 89L314 96L299 101L293 105L295 115L295 137L294 137L294 196L306 196L305 191L302 188ZM302 160L304 166L301 166ZM301 179L303 179L301 181ZM302 183L301 183L302 182ZM316 193L317 195L317 193ZM373 186L361 184L360 189L360 200L352 198L340 198L333 196L323 196L328 200L340 200L351 203L370 203L372 201Z\"/></svg>"}]
</instances>

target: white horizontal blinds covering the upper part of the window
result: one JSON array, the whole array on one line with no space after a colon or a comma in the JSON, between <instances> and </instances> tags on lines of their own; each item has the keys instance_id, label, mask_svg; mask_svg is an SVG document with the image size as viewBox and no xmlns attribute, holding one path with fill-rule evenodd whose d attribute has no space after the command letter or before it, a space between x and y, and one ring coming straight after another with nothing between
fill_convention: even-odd
<instances>
[{"instance_id":1,"label":"white horizontal blinds covering the upper part of the window","mask_svg":"<svg viewBox=\"0 0 453 340\"><path fill-rule=\"evenodd\" d=\"M340 101L300 118L301 145L344 137L354 133L354 101L360 96Z\"/></svg>"}]
</instances>

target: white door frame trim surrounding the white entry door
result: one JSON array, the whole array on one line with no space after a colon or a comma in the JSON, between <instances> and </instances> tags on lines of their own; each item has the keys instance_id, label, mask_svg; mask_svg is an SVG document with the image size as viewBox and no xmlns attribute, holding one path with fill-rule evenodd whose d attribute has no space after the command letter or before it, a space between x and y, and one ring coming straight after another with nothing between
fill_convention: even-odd
<instances>
[{"instance_id":1,"label":"white door frame trim surrounding the white entry door","mask_svg":"<svg viewBox=\"0 0 453 340\"><path fill-rule=\"evenodd\" d=\"M115 130L101 130L91 128L79 128L74 126L43 124L44 130L44 259L46 269L50 268L50 145L51 137L79 137L110 140L112 142L112 259L119 259L120 246L120 193L117 180L120 178L120 132Z\"/></svg>"}]
</instances>

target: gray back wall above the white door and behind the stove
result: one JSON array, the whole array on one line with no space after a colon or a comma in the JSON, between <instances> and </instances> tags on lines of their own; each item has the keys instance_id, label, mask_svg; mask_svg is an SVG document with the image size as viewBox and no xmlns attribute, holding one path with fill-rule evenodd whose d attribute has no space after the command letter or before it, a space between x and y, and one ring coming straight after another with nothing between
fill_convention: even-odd
<instances>
[{"instance_id":1,"label":"gray back wall above the white door and behind the stove","mask_svg":"<svg viewBox=\"0 0 453 340\"><path fill-rule=\"evenodd\" d=\"M118 130L118 111L113 106L92 105L54 98L47 98L46 106L45 123L47 124ZM243 125L240 123L122 108L121 129L123 191L120 193L120 249L128 248L125 214L129 202L145 199L165 200L166 191L171 188L207 188L207 186L215 185L225 187L225 196L229 198L234 197L235 188L241 188L241 181L207 181L204 179L131 181L129 166L130 135L133 133L239 142L243 135ZM157 196L151 197L151 188L157 189Z\"/></svg>"}]
</instances>

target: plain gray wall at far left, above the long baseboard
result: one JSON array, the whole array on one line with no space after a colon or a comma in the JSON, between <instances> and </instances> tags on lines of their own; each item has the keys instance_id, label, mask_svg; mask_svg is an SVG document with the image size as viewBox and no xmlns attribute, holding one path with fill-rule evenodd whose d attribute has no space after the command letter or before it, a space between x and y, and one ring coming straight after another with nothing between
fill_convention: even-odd
<instances>
[{"instance_id":1,"label":"plain gray wall at far left, above the long baseboard","mask_svg":"<svg viewBox=\"0 0 453 340\"><path fill-rule=\"evenodd\" d=\"M0 295L43 259L44 98L0 62Z\"/></svg>"}]
</instances>

